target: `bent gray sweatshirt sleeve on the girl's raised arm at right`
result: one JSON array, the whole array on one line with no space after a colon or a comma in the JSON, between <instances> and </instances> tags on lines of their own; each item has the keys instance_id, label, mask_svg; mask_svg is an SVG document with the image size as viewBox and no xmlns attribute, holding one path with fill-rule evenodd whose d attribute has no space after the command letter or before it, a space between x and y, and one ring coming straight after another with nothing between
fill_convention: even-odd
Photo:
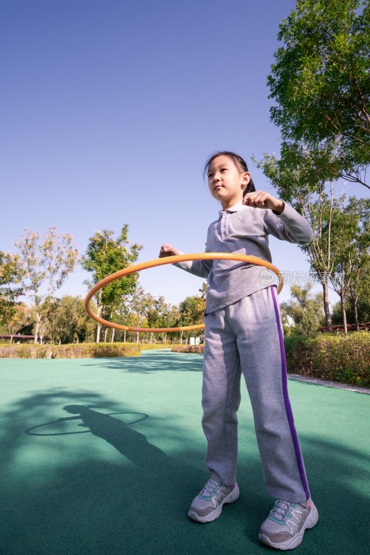
<instances>
[{"instance_id":1,"label":"bent gray sweatshirt sleeve on the girl's raised arm at right","mask_svg":"<svg viewBox=\"0 0 370 555\"><path fill-rule=\"evenodd\" d=\"M285 203L281 214L266 210L265 225L267 232L282 241L306 245L313 237L312 228L306 218Z\"/></svg>"}]
</instances>

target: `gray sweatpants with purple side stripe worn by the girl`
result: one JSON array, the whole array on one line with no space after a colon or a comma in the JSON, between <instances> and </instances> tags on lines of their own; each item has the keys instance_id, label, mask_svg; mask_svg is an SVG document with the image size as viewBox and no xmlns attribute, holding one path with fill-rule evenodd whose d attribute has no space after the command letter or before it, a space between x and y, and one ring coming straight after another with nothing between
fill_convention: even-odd
<instances>
[{"instance_id":1,"label":"gray sweatpants with purple side stripe worn by the girl","mask_svg":"<svg viewBox=\"0 0 370 555\"><path fill-rule=\"evenodd\" d=\"M254 413L267 493L303 502L310 497L288 398L283 331L276 287L206 314L202 426L206 466L223 484L236 482L240 376Z\"/></svg>"}]
</instances>

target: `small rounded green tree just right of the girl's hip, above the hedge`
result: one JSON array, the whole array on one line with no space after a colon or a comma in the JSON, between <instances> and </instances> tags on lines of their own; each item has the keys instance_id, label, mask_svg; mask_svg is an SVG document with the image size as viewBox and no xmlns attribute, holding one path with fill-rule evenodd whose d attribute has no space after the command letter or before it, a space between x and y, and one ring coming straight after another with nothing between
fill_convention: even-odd
<instances>
[{"instance_id":1,"label":"small rounded green tree just right of the girl's hip, above the hedge","mask_svg":"<svg viewBox=\"0 0 370 555\"><path fill-rule=\"evenodd\" d=\"M306 287L292 285L290 293L292 299L281 303L284 316L289 316L294 322L294 333L297 335L315 334L322 324L324 311L322 308L322 293L312 298L310 290L312 284Z\"/></svg>"}]
</instances>

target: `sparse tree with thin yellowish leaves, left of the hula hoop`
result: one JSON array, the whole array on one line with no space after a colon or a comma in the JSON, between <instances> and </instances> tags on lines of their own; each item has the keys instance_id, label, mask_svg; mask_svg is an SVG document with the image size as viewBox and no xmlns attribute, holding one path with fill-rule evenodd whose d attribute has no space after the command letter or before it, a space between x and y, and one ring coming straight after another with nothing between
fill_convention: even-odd
<instances>
[{"instance_id":1,"label":"sparse tree with thin yellowish leaves, left of the hula hoop","mask_svg":"<svg viewBox=\"0 0 370 555\"><path fill-rule=\"evenodd\" d=\"M15 241L19 250L19 263L23 271L22 284L35 303L35 343L41 322L40 307L44 298L51 298L62 287L70 273L76 268L78 249L73 244L73 235L55 231L55 225L40 240L40 232L24 230L20 241ZM44 288L46 287L46 291ZM44 292L43 292L44 291Z\"/></svg>"}]
</instances>

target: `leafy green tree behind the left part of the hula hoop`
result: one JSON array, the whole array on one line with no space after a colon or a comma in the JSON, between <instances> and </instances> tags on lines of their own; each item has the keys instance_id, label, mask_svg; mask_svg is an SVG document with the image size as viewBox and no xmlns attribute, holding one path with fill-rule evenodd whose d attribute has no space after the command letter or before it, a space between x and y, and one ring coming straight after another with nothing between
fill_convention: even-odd
<instances>
[{"instance_id":1,"label":"leafy green tree behind the left part of the hula hoop","mask_svg":"<svg viewBox=\"0 0 370 555\"><path fill-rule=\"evenodd\" d=\"M140 250L143 248L139 243L128 247L130 244L127 238L129 226L123 225L121 233L117 239L114 239L112 230L96 231L93 237L90 237L89 244L85 256L82 257L82 268L92 273L91 280L85 283L89 287L93 287L108 275L132 266L139 256ZM126 275L120 280L109 283L100 289L96 295L98 305L98 316L103 311L103 316L107 316L112 312L112 308L119 306L121 299L134 291L137 280L137 274ZM100 341L100 324L96 333L96 343Z\"/></svg>"}]
</instances>

